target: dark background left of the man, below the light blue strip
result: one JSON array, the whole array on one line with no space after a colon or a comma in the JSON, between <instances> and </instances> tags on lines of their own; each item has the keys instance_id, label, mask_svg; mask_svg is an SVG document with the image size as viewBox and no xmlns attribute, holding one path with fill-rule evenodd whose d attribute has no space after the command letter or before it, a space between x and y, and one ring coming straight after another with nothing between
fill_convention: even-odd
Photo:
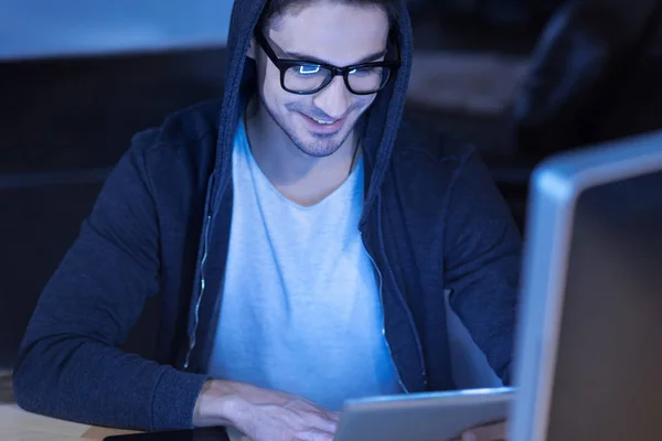
<instances>
[{"instance_id":1,"label":"dark background left of the man, below the light blue strip","mask_svg":"<svg viewBox=\"0 0 662 441\"><path fill-rule=\"evenodd\" d=\"M218 96L222 49L0 63L0 369L134 133ZM128 348L149 353L153 305Z\"/></svg>"}]
</instances>

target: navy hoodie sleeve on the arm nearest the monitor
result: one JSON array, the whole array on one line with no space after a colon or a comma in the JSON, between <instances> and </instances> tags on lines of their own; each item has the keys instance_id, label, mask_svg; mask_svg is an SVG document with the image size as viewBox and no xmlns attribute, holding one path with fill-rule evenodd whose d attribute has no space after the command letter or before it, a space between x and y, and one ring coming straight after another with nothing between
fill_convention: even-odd
<instances>
[{"instance_id":1,"label":"navy hoodie sleeve on the arm nearest the monitor","mask_svg":"<svg viewBox=\"0 0 662 441\"><path fill-rule=\"evenodd\" d=\"M450 304L504 384L510 384L521 239L487 166L471 153L451 190L445 272Z\"/></svg>"}]
</instances>

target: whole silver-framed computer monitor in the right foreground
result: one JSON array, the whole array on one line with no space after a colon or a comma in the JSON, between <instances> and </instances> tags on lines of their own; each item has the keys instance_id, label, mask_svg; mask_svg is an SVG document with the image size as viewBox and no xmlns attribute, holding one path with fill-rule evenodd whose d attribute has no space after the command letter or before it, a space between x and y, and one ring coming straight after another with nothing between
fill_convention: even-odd
<instances>
[{"instance_id":1,"label":"whole silver-framed computer monitor in the right foreground","mask_svg":"<svg viewBox=\"0 0 662 441\"><path fill-rule=\"evenodd\" d=\"M662 132L531 181L511 441L662 437Z\"/></svg>"}]
</instances>

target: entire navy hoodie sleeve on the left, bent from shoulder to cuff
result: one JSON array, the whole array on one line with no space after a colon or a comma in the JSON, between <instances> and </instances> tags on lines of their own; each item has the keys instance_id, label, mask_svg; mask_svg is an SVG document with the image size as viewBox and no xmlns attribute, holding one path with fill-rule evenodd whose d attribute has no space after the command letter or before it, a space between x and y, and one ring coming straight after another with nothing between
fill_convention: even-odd
<instances>
[{"instance_id":1,"label":"entire navy hoodie sleeve on the left, bent from shoulder to cuff","mask_svg":"<svg viewBox=\"0 0 662 441\"><path fill-rule=\"evenodd\" d=\"M151 135L135 139L46 284L14 368L28 411L142 430L192 427L206 377L118 346L159 291L159 228L145 168Z\"/></svg>"}]
</instances>

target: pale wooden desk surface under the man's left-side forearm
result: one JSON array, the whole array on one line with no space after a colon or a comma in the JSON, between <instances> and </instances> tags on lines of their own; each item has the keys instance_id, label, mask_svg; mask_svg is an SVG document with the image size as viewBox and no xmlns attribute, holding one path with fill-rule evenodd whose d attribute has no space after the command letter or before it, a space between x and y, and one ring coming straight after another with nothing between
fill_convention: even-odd
<instances>
[{"instance_id":1,"label":"pale wooden desk surface under the man's left-side forearm","mask_svg":"<svg viewBox=\"0 0 662 441\"><path fill-rule=\"evenodd\" d=\"M135 430L118 430L79 424L26 412L17 405L0 405L0 440L2 441L102 441L113 434L138 433ZM228 430L232 441L247 438Z\"/></svg>"}]
</instances>

